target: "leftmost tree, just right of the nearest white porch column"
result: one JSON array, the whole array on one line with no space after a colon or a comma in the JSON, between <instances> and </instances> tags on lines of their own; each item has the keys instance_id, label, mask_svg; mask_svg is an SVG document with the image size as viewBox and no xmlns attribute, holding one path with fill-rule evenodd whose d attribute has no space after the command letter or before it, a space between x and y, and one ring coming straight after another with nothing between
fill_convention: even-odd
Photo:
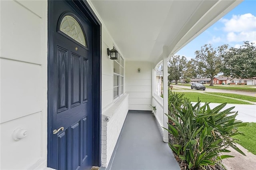
<instances>
[{"instance_id":1,"label":"leftmost tree, just right of the nearest white porch column","mask_svg":"<svg viewBox=\"0 0 256 170\"><path fill-rule=\"evenodd\" d=\"M168 59L168 73L170 73L170 77L175 80L175 84L178 84L178 80L182 77L182 70L185 68L186 63L186 57L180 57L180 55L173 55Z\"/></svg>"}]
</instances>

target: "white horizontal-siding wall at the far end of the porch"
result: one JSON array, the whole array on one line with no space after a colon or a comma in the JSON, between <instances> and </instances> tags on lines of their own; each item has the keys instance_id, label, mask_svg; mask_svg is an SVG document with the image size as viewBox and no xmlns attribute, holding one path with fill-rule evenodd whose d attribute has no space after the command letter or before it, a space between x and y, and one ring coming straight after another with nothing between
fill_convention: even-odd
<instances>
[{"instance_id":1,"label":"white horizontal-siding wall at the far end of the porch","mask_svg":"<svg viewBox=\"0 0 256 170\"><path fill-rule=\"evenodd\" d=\"M140 68L140 73L138 73ZM152 64L126 62L126 91L130 93L129 110L150 111L152 104Z\"/></svg>"}]
</instances>

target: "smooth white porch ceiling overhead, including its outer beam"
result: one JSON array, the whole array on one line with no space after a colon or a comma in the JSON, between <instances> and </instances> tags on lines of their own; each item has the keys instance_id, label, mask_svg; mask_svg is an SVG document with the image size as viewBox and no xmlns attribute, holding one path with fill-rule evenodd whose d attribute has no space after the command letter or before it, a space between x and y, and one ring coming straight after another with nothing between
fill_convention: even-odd
<instances>
[{"instance_id":1,"label":"smooth white porch ceiling overhead, including its outer beam","mask_svg":"<svg viewBox=\"0 0 256 170\"><path fill-rule=\"evenodd\" d=\"M242 0L92 0L126 60L158 62L218 21Z\"/></svg>"}]
</instances>

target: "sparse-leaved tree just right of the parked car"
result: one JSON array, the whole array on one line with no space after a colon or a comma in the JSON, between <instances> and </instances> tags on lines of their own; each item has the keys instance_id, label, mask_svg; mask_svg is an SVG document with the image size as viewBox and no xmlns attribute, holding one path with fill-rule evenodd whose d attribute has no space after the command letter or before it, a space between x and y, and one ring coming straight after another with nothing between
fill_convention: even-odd
<instances>
[{"instance_id":1,"label":"sparse-leaved tree just right of the parked car","mask_svg":"<svg viewBox=\"0 0 256 170\"><path fill-rule=\"evenodd\" d=\"M214 76L220 73L223 56L226 54L228 45L221 45L214 49L211 44L205 44L201 50L195 52L197 73L200 76L211 79L210 86L213 86Z\"/></svg>"}]
</instances>

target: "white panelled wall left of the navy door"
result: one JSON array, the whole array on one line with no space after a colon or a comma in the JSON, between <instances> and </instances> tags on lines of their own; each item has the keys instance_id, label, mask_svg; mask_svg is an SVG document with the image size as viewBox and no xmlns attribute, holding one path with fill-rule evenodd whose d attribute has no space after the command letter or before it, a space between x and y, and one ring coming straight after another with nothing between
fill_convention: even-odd
<instances>
[{"instance_id":1,"label":"white panelled wall left of the navy door","mask_svg":"<svg viewBox=\"0 0 256 170\"><path fill-rule=\"evenodd\" d=\"M45 168L47 1L0 1L0 17L0 169ZM19 127L28 135L16 141Z\"/></svg>"}]
</instances>

